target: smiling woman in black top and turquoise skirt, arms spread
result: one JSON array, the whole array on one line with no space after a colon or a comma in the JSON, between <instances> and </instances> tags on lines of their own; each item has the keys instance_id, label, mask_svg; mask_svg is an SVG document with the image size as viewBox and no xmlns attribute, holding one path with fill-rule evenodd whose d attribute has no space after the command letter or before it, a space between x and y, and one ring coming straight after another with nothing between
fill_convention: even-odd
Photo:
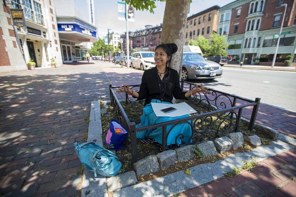
<instances>
[{"instance_id":1,"label":"smiling woman in black top and turquoise skirt, arms spread","mask_svg":"<svg viewBox=\"0 0 296 197\"><path fill-rule=\"evenodd\" d=\"M142 76L141 86L139 91L133 91L129 89L128 85L120 86L116 92L126 92L137 98L138 100L146 99L143 108L143 115L140 120L141 123L136 127L154 125L170 120L176 120L189 115L178 117L157 117L153 112L151 103L166 103L172 104L173 97L176 99L186 100L190 95L194 95L197 92L210 92L208 88L201 87L183 92L180 88L178 72L170 67L170 61L172 54L178 50L176 44L160 44L155 48L154 61L156 66L149 70L146 70ZM192 120L188 121L192 125ZM173 125L167 126L167 133ZM181 135L182 137L181 137ZM191 126L187 123L182 123L175 126L168 135L167 145L186 143L191 138ZM178 136L179 135L179 136ZM178 136L178 139L176 139ZM162 144L162 127L144 130L136 133L136 137L144 139L142 142L157 142Z\"/></svg>"}]
</instances>

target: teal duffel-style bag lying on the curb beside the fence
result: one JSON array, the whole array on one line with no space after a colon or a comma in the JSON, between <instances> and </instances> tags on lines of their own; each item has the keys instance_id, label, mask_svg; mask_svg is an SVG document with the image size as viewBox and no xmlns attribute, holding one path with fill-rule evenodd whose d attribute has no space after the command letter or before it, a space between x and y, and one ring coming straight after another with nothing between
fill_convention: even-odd
<instances>
[{"instance_id":1,"label":"teal duffel-style bag lying on the curb beside the fence","mask_svg":"<svg viewBox=\"0 0 296 197\"><path fill-rule=\"evenodd\" d=\"M94 177L96 177L96 174L112 177L121 168L118 157L97 143L88 142L79 145L75 142L74 146L80 162L91 172L94 172Z\"/></svg>"}]
</instances>

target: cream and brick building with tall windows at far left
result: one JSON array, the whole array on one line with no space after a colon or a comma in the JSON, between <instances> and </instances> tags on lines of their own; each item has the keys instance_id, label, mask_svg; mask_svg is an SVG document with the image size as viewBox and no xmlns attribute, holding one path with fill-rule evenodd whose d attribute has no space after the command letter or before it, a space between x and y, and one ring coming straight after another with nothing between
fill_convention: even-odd
<instances>
[{"instance_id":1,"label":"cream and brick building with tall windows at far left","mask_svg":"<svg viewBox=\"0 0 296 197\"><path fill-rule=\"evenodd\" d=\"M5 0L5 3L7 6L2 3L0 10L1 29L5 37L5 46L0 49L3 51L0 62L5 63L1 63L0 72L25 70L30 58L36 62L36 67L49 66L51 58L58 66L62 65L53 2ZM10 8L24 9L26 28L12 26Z\"/></svg>"}]
</instances>

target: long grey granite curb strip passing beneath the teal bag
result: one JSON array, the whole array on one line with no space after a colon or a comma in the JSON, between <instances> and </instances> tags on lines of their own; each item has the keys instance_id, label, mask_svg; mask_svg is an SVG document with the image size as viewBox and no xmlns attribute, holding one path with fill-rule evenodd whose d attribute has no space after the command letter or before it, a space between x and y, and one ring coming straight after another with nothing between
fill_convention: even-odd
<instances>
[{"instance_id":1,"label":"long grey granite curb strip passing beneath the teal bag","mask_svg":"<svg viewBox=\"0 0 296 197\"><path fill-rule=\"evenodd\" d=\"M95 142L103 146L101 107L99 101L91 102L87 142ZM81 197L98 196L98 194L99 196L108 197L106 178L100 175L95 178L93 172L84 168Z\"/></svg>"}]
</instances>

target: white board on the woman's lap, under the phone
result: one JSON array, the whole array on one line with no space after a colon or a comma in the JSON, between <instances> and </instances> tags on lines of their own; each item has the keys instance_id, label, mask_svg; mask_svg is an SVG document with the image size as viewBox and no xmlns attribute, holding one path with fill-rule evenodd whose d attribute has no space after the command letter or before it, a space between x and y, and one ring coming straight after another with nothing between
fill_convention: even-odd
<instances>
[{"instance_id":1,"label":"white board on the woman's lap, under the phone","mask_svg":"<svg viewBox=\"0 0 296 197\"><path fill-rule=\"evenodd\" d=\"M166 116L166 117L177 117L183 116L186 114L197 113L191 106L187 103L177 103L177 104L165 104L165 103L151 103L152 109L157 117ZM165 109L168 107L174 107L177 110L173 112L164 113L160 111L161 109Z\"/></svg>"}]
</instances>

